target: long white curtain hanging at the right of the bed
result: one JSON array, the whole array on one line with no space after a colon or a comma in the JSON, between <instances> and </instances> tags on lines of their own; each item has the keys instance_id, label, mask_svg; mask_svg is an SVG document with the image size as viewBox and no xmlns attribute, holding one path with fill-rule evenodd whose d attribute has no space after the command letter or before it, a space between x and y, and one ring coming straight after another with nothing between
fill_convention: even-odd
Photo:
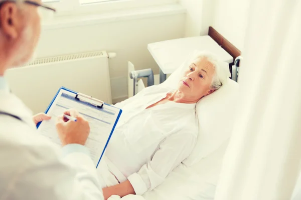
<instances>
[{"instance_id":1,"label":"long white curtain hanging at the right of the bed","mask_svg":"<svg viewBox=\"0 0 301 200\"><path fill-rule=\"evenodd\" d=\"M301 160L301 0L250 0L246 32L215 200L289 200Z\"/></svg>"}]
</instances>

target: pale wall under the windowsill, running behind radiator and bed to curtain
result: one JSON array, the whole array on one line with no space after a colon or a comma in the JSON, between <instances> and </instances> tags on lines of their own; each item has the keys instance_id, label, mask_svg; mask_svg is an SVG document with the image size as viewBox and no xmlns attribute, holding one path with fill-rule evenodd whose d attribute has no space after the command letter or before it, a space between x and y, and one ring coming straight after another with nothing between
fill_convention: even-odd
<instances>
[{"instance_id":1,"label":"pale wall under the windowsill, running behind radiator and bed to curtain","mask_svg":"<svg viewBox=\"0 0 301 200\"><path fill-rule=\"evenodd\" d=\"M146 48L148 43L205 35L212 25L242 50L249 0L179 1L187 9L187 14L153 15L42 30L38 57L93 50L116 52L117 57L109 60L112 98L116 101L127 96L128 60L136 69L152 67L155 74L159 72Z\"/></svg>"}]
</instances>

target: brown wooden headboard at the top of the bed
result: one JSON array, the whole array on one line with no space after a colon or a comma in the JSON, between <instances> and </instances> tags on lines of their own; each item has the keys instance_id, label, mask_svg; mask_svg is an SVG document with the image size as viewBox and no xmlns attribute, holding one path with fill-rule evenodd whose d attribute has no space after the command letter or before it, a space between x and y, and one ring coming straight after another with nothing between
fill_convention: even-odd
<instances>
[{"instance_id":1,"label":"brown wooden headboard at the top of the bed","mask_svg":"<svg viewBox=\"0 0 301 200\"><path fill-rule=\"evenodd\" d=\"M233 57L233 60L241 54L241 51L238 48L211 26L209 27L208 35L225 49Z\"/></svg>"}]
</instances>

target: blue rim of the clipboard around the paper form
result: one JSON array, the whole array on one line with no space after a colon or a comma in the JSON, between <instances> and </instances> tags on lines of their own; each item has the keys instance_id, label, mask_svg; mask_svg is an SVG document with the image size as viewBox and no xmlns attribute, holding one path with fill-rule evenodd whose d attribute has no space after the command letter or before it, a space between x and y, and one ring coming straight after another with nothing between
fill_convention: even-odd
<instances>
[{"instance_id":1,"label":"blue rim of the clipboard around the paper form","mask_svg":"<svg viewBox=\"0 0 301 200\"><path fill-rule=\"evenodd\" d=\"M55 94L55 96L54 96L53 99L51 100L50 104L49 104L48 107L46 108L46 110L45 110L45 113L46 113L46 114L47 114L47 112L49 111L50 107L52 106L53 102L55 101L55 99L57 98L58 94L60 93L60 91L61 91L62 89L63 89L63 90L66 90L66 91L69 91L69 92L72 92L72 93L74 93L74 94L79 94L78 92L73 91L73 90L71 90L71 89L68 89L68 88L66 88L66 87L60 87L60 89L57 91L57 93ZM76 95L76 96L77 96L77 95ZM103 102L103 104L112 107L112 105L110 105L110 104L107 104L107 103L104 103L104 102ZM99 158L99 160L98 160L98 163L97 163L97 165L96 165L96 168L97 168L97 166L98 166L98 164L99 164L99 162L100 162L100 160L101 160L101 158L102 158L102 156L103 156L103 154L104 154L104 151L105 151L105 149L106 149L106 147L107 147L107 145L108 145L108 143L109 143L109 141L110 141L110 139L111 139L111 136L112 136L112 134L113 134L113 132L114 132L114 129L115 129L115 127L116 127L116 124L117 124L117 122L118 122L118 120L119 120L119 117L120 117L121 113L122 113L122 109L119 109L119 113L118 113L118 115L117 115L116 121L115 121L115 123L114 123L114 125L113 125L113 127L112 127L112 130L111 130L110 135L109 135L109 137L108 137L108 139L107 139L107 142L106 142L106 144L105 144L105 146L104 146L104 148L103 148L103 150L102 150L102 153L101 153L101 156L100 156L100 158ZM40 126L41 123L42 123L42 121L39 122L39 123L37 124L37 128L39 128L39 126Z\"/></svg>"}]
</instances>

